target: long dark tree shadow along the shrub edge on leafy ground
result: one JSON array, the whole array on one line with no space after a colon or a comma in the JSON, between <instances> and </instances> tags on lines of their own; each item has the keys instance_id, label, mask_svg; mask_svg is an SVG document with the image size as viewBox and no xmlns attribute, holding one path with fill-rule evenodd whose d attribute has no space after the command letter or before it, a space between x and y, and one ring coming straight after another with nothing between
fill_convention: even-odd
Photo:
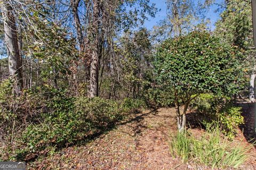
<instances>
[{"instance_id":1,"label":"long dark tree shadow along the shrub edge on leafy ground","mask_svg":"<svg viewBox=\"0 0 256 170\"><path fill-rule=\"evenodd\" d=\"M71 143L69 145L58 146L57 149L55 149L55 151L60 151L61 149L68 148L68 147L85 145L86 143L88 143L94 139L100 138L102 134L108 133L109 131L115 129L119 125L125 125L125 124L129 124L132 122L136 122L138 124L137 126L133 127L134 129L136 129L134 135L137 135L137 134L141 133L142 129L147 128L146 126L142 125L142 123L141 123L142 120L149 114L156 115L157 112L158 112L157 108L155 108L152 111L149 111L147 113L142 113L141 111L138 111L136 109L130 113L125 114L124 118L116 120L115 122L108 124L106 126L99 127L97 132L88 134L84 138L79 139L79 140L75 141L74 143ZM41 150L41 151L34 152L34 153L23 152L23 153L18 154L16 156L16 159L18 161L26 161L27 163L30 163L30 162L34 162L39 156L46 156L49 153L49 151L50 150Z\"/></svg>"}]
</instances>

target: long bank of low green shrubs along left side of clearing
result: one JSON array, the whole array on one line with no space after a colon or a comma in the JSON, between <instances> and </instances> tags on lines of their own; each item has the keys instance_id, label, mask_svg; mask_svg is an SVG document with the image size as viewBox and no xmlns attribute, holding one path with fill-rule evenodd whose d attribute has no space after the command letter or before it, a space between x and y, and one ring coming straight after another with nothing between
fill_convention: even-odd
<instances>
[{"instance_id":1,"label":"long bank of low green shrubs along left side of clearing","mask_svg":"<svg viewBox=\"0 0 256 170\"><path fill-rule=\"evenodd\" d=\"M6 87L9 85L3 85L4 88L1 85L0 92L5 91L2 92L4 95L0 94L0 99L7 98L9 91ZM100 97L74 98L70 97L66 90L47 85L23 90L17 100L19 102L15 104L15 112L12 112L6 100L6 107L1 107L4 112L0 113L0 123L6 125L1 126L1 134L6 139L6 145L3 145L5 150L2 147L1 150L11 153L1 156L1 160L22 159L30 152L38 153L41 150L61 148L83 141L113 127L115 122L124 117L124 112L146 107L142 99L125 99L118 103ZM26 117L26 120L23 117ZM13 146L7 142L13 141L10 135L7 136L7 133L12 134L12 131L16 137L13 139ZM3 154L2 151L0 154Z\"/></svg>"}]
</instances>

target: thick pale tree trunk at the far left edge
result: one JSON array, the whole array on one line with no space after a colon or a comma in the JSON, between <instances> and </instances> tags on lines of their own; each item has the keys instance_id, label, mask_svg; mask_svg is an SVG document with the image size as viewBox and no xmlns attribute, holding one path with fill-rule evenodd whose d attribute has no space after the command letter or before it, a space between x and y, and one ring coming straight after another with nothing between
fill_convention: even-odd
<instances>
[{"instance_id":1,"label":"thick pale tree trunk at the far left edge","mask_svg":"<svg viewBox=\"0 0 256 170\"><path fill-rule=\"evenodd\" d=\"M14 89L15 93L19 94L23 88L21 68L22 58L20 56L15 16L12 13L13 8L9 4L3 5L1 10L4 21L4 35L9 61L9 73L17 83L17 86Z\"/></svg>"}]
</instances>

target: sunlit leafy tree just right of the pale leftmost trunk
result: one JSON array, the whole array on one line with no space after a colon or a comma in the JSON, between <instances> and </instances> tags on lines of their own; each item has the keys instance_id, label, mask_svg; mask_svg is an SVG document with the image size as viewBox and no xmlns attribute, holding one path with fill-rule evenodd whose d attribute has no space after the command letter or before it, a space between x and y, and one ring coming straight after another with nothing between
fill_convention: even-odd
<instances>
[{"instance_id":1,"label":"sunlit leafy tree just right of the pale leftmost trunk","mask_svg":"<svg viewBox=\"0 0 256 170\"><path fill-rule=\"evenodd\" d=\"M72 70L71 61L77 55L75 39L65 29L38 14L34 14L34 23L39 29L37 36L30 36L23 43L24 54L31 63L29 72L34 70L28 74L39 74L35 80L50 81L55 88L59 88L58 80L67 78Z\"/></svg>"}]
</instances>

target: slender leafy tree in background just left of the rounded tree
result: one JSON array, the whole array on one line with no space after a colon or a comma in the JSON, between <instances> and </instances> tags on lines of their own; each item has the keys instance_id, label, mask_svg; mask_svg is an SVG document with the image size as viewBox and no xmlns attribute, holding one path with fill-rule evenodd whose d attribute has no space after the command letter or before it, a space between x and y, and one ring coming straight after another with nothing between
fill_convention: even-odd
<instances>
[{"instance_id":1,"label":"slender leafy tree in background just left of the rounded tree","mask_svg":"<svg viewBox=\"0 0 256 170\"><path fill-rule=\"evenodd\" d=\"M124 84L127 84L130 96L137 98L140 88L145 83L145 74L150 69L151 43L147 29L142 28L134 33L126 32L122 37L120 49L124 73Z\"/></svg>"}]
</instances>

